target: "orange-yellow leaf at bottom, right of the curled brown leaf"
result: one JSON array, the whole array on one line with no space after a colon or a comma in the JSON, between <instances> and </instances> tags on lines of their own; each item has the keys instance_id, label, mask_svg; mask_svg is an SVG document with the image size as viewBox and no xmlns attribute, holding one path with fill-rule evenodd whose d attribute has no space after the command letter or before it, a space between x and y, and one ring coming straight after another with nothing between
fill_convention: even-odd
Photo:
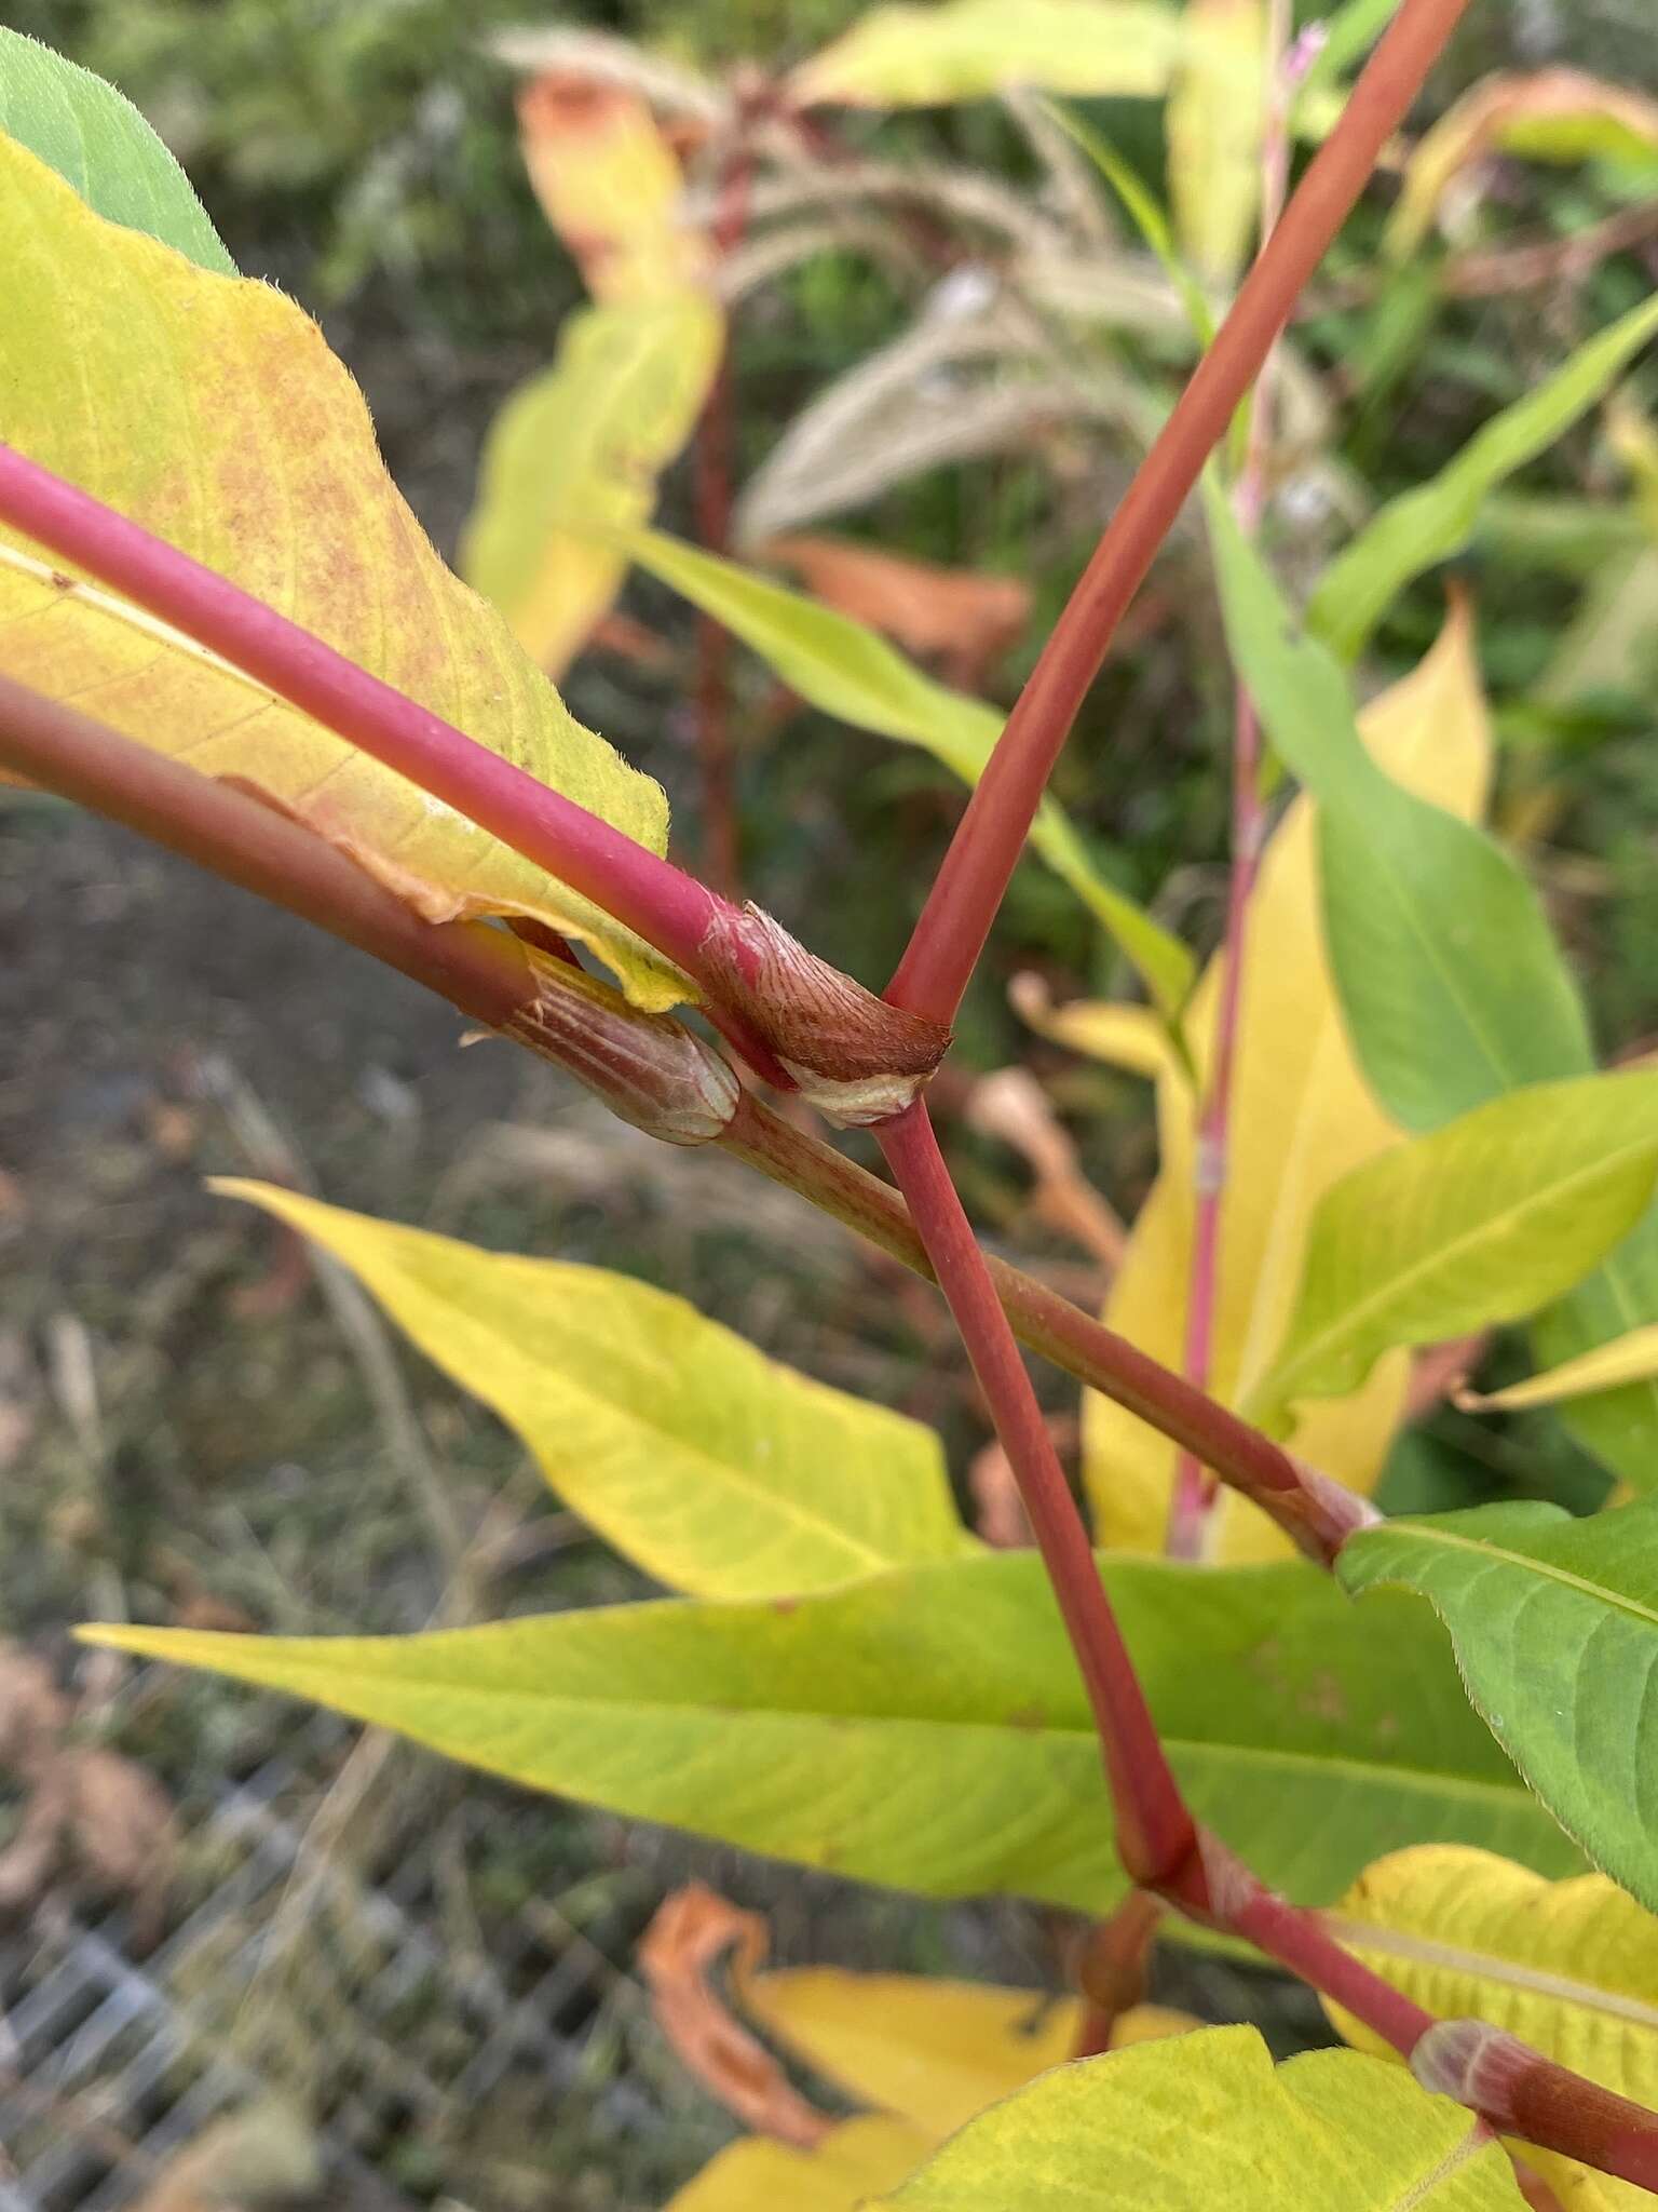
<instances>
[{"instance_id":1,"label":"orange-yellow leaf at bottom, right of the curled brown leaf","mask_svg":"<svg viewBox=\"0 0 1658 2212\"><path fill-rule=\"evenodd\" d=\"M1048 2066L1063 2066L1081 2033L1074 1997L906 1973L798 1966L758 1975L743 1997L816 2073L935 2143ZM1141 2004L1116 2022L1112 2048L1196 2026L1189 2013Z\"/></svg>"}]
</instances>

